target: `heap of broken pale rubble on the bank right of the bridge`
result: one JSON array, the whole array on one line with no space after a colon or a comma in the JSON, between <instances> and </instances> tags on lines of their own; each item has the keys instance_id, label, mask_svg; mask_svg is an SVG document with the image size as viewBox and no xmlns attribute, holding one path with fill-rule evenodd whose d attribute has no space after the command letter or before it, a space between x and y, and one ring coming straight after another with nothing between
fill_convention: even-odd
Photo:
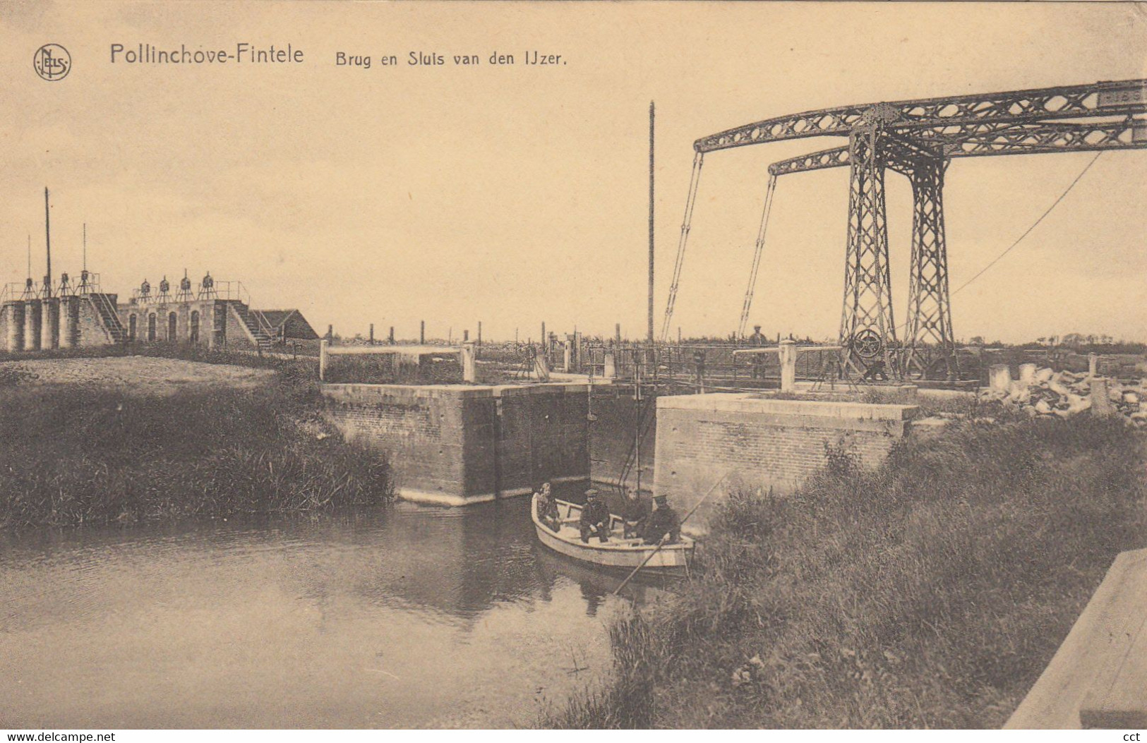
<instances>
[{"instance_id":1,"label":"heap of broken pale rubble on the bank right of the bridge","mask_svg":"<svg viewBox=\"0 0 1147 743\"><path fill-rule=\"evenodd\" d=\"M1100 384L1094 385L1093 383ZM1119 415L1129 425L1147 428L1147 389L1144 381L1124 383L1086 373L1038 369L1020 380L981 391L982 400L999 400L1032 416L1070 417L1095 407L1097 415ZM1095 394L1106 386L1106 401L1095 401Z\"/></svg>"}]
</instances>

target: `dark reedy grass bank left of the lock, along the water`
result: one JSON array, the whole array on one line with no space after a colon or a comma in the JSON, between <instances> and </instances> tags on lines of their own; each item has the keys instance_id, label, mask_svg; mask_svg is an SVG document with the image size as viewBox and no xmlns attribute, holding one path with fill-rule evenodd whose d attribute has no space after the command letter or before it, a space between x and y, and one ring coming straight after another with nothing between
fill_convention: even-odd
<instances>
[{"instance_id":1,"label":"dark reedy grass bank left of the lock, along the water","mask_svg":"<svg viewBox=\"0 0 1147 743\"><path fill-rule=\"evenodd\" d=\"M257 390L0 394L0 527L321 511L390 498L390 470L318 415L299 369Z\"/></svg>"}]
</instances>

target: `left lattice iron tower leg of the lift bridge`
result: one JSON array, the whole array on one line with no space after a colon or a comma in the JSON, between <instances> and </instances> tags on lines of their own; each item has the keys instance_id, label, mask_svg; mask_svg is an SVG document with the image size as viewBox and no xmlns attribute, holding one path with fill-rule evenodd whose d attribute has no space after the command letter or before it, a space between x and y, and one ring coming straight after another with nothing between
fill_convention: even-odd
<instances>
[{"instance_id":1,"label":"left lattice iron tower leg of the lift bridge","mask_svg":"<svg viewBox=\"0 0 1147 743\"><path fill-rule=\"evenodd\" d=\"M887 378L897 374L892 359L897 342L888 268L882 135L881 128L873 125L849 136L849 229L840 338L845 369L863 375L879 363Z\"/></svg>"}]
</instances>

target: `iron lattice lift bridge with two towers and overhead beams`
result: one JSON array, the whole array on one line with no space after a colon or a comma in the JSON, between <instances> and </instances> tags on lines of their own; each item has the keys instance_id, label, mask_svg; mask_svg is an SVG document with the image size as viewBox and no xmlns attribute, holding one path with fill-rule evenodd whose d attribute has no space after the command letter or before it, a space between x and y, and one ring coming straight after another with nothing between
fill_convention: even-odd
<instances>
[{"instance_id":1,"label":"iron lattice lift bridge with two towers and overhead beams","mask_svg":"<svg viewBox=\"0 0 1147 743\"><path fill-rule=\"evenodd\" d=\"M1147 79L896 101L807 111L738 126L693 143L693 175L661 339L668 339L693 209L708 152L810 136L848 144L773 163L738 335L744 336L777 178L848 167L849 227L840 344L849 374L957 378L944 242L944 172L952 158L1147 149ZM897 339L888 266L884 171L912 183L907 321Z\"/></svg>"}]
</instances>

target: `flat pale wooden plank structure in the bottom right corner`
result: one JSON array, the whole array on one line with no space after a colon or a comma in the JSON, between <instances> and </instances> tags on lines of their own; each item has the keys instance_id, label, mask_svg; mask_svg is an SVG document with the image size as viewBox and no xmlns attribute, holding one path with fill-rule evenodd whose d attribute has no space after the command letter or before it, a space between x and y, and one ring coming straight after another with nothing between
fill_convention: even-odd
<instances>
[{"instance_id":1,"label":"flat pale wooden plank structure in the bottom right corner","mask_svg":"<svg viewBox=\"0 0 1147 743\"><path fill-rule=\"evenodd\" d=\"M1147 727L1147 549L1122 553L1005 729Z\"/></svg>"}]
</instances>

